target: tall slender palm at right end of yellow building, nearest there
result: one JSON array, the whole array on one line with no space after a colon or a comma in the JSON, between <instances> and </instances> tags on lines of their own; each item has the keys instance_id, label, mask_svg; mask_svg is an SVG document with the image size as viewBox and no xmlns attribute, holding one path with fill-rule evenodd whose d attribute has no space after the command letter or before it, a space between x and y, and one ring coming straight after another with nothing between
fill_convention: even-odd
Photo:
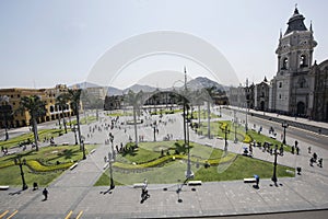
<instances>
[{"instance_id":1,"label":"tall slender palm at right end of yellow building, nearest there","mask_svg":"<svg viewBox=\"0 0 328 219\"><path fill-rule=\"evenodd\" d=\"M82 139L81 139L80 114L79 114L81 92L82 92L81 89L69 89L68 90L68 97L69 97L69 101L71 103L71 108L73 110L73 112L77 116L80 150L83 151L83 159L85 159L84 143L82 142Z\"/></svg>"}]
</instances>

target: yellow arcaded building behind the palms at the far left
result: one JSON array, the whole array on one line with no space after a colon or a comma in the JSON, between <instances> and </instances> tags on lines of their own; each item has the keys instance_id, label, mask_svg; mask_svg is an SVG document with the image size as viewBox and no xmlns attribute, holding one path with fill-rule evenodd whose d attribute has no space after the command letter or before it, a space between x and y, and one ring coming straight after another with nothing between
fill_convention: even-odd
<instances>
[{"instance_id":1,"label":"yellow arcaded building behind the palms at the far left","mask_svg":"<svg viewBox=\"0 0 328 219\"><path fill-rule=\"evenodd\" d=\"M19 107L22 96L38 95L45 102L46 114L37 123L56 120L61 115L61 107L56 105L56 97L68 91L66 84L58 84L50 89L0 89L0 127L8 128L28 126L31 116L27 111L13 114ZM65 116L72 116L70 104L65 107Z\"/></svg>"}]
</instances>

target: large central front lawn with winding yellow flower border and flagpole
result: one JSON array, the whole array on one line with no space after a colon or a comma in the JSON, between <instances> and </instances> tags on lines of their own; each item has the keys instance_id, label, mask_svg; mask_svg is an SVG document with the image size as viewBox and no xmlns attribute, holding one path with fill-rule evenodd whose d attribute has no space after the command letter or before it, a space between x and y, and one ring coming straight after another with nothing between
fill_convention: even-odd
<instances>
[{"instance_id":1,"label":"large central front lawn with winding yellow flower border and flagpole","mask_svg":"<svg viewBox=\"0 0 328 219\"><path fill-rule=\"evenodd\" d=\"M132 154L118 155L118 159L113 164L115 184L132 185L134 183L142 183L144 178L148 178L149 183L152 184L171 184L184 181L187 168L187 154L184 153L185 151L180 151L179 154L174 155L173 153L178 147L176 141L142 142L139 149L133 151ZM254 174L259 175L261 178L270 178L272 176L273 164L270 162L235 153L224 155L220 149L198 143L191 143L190 147L191 170L195 173L195 180L203 182L233 181L253 177ZM160 152L162 149L171 151L171 154L166 155L164 152L164 155L162 155L162 152ZM160 162L167 157L169 157L168 160ZM175 159L172 159L173 157ZM159 163L152 165L156 161ZM206 162L212 163L212 165L204 168ZM121 163L126 163L126 165ZM294 176L294 169L278 165L277 175L278 177ZM95 186L105 185L109 185L108 169L95 184Z\"/></svg>"}]
</instances>

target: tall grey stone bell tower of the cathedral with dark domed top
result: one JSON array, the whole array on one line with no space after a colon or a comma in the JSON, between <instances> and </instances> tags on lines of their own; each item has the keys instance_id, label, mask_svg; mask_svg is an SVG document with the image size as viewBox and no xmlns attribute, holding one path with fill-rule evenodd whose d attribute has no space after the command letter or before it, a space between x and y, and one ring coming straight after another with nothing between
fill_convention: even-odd
<instances>
[{"instance_id":1,"label":"tall grey stone bell tower of the cathedral with dark domed top","mask_svg":"<svg viewBox=\"0 0 328 219\"><path fill-rule=\"evenodd\" d=\"M300 88L300 84L302 88L309 84L309 81L306 81L306 76L311 69L313 51L317 43L313 37L312 24L308 30L304 20L305 18L300 14L295 7L293 15L289 19L285 33L282 35L280 31L279 45L276 50L278 71L272 81L272 104L277 112L283 114L297 114L297 100L294 95L296 88ZM308 100L302 101L305 112L307 102Z\"/></svg>"}]
</instances>

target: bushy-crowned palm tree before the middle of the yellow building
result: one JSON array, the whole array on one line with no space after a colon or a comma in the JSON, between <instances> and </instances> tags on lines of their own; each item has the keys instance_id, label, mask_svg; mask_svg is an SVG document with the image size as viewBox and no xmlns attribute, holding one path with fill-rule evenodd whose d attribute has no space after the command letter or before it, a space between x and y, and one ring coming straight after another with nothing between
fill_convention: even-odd
<instances>
[{"instance_id":1,"label":"bushy-crowned palm tree before the middle of the yellow building","mask_svg":"<svg viewBox=\"0 0 328 219\"><path fill-rule=\"evenodd\" d=\"M20 107L16 112L27 111L31 116L35 150L38 151L38 135L37 135L37 118L45 115L46 108L45 103L40 100L38 95L30 95L21 97Z\"/></svg>"}]
</instances>

